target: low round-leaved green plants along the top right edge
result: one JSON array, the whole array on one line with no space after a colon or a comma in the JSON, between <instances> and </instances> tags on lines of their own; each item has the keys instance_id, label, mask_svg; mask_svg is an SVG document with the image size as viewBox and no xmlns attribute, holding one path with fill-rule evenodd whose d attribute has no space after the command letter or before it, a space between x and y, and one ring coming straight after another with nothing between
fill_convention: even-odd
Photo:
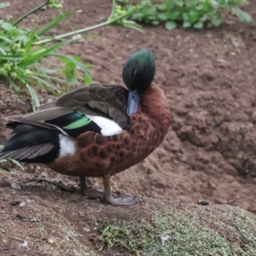
<instances>
[{"instance_id":1,"label":"low round-leaved green plants along the top right edge","mask_svg":"<svg viewBox=\"0 0 256 256\"><path fill-rule=\"evenodd\" d=\"M124 9L133 6L129 0L119 2L124 4ZM140 11L131 18L151 25L163 22L168 30L176 28L179 23L183 27L201 29L206 23L207 26L219 26L224 9L231 10L243 22L251 21L252 17L239 7L245 3L247 0L140 0L135 4Z\"/></svg>"}]
</instances>

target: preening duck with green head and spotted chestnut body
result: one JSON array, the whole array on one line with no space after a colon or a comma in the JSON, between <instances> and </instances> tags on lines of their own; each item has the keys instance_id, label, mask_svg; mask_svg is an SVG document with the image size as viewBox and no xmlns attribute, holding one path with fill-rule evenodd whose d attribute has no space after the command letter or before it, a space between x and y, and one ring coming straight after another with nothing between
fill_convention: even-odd
<instances>
[{"instance_id":1,"label":"preening duck with green head and spotted chestnut body","mask_svg":"<svg viewBox=\"0 0 256 256\"><path fill-rule=\"evenodd\" d=\"M90 198L129 206L135 196L115 197L110 178L144 160L163 141L171 110L154 84L154 53L141 49L123 66L121 85L91 84L73 90L32 113L6 117L12 129L0 159L48 166L79 177ZM104 190L89 188L87 177L102 177Z\"/></svg>"}]
</instances>

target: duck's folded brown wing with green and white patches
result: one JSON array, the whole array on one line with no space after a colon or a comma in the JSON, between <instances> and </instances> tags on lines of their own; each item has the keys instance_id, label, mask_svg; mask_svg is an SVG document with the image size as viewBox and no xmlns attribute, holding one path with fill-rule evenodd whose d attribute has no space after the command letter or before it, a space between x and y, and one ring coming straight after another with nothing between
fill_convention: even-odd
<instances>
[{"instance_id":1,"label":"duck's folded brown wing with green and white patches","mask_svg":"<svg viewBox=\"0 0 256 256\"><path fill-rule=\"evenodd\" d=\"M8 117L7 126L37 125L71 137L85 131L110 136L128 125L127 97L128 90L120 86L94 84L73 90L55 102L42 105L36 112Z\"/></svg>"}]
</instances>

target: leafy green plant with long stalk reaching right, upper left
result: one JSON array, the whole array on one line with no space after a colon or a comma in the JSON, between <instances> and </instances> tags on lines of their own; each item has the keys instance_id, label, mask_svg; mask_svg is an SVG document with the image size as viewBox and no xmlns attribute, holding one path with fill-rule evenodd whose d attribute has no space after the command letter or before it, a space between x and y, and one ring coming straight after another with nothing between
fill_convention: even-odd
<instances>
[{"instance_id":1,"label":"leafy green plant with long stalk reaching right, upper left","mask_svg":"<svg viewBox=\"0 0 256 256\"><path fill-rule=\"evenodd\" d=\"M9 3L1 3L0 9L5 9L8 6ZM39 21L32 30L20 28L22 20L44 7L57 9L59 15L56 15L54 20L49 21L41 28L38 28ZM126 19L136 11L137 7L131 7L124 11L113 0L112 13L107 21L78 31L47 37L47 32L51 28L61 20L67 21L67 18L75 13L75 11L62 13L61 7L59 0L47 0L22 15L18 20L0 20L0 79L5 80L17 92L28 90L32 98L33 109L39 106L38 96L34 90L36 87L55 93L56 84L60 85L61 92L63 92L63 89L68 91L70 86L78 82L92 83L92 77L88 70L89 65L83 64L79 56L61 54L56 52L57 49L81 39L81 33L101 26L119 25L140 31L134 21ZM64 66L61 70L62 78L59 68L49 69L49 65L46 64L45 60L50 56L57 57L62 62L62 66Z\"/></svg>"}]
</instances>

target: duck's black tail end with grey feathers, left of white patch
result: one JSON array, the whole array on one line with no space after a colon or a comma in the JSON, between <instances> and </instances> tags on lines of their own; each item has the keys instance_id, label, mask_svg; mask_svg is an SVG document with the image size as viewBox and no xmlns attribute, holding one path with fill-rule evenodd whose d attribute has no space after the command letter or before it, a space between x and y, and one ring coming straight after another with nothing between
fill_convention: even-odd
<instances>
[{"instance_id":1,"label":"duck's black tail end with grey feathers, left of white patch","mask_svg":"<svg viewBox=\"0 0 256 256\"><path fill-rule=\"evenodd\" d=\"M28 163L48 164L60 151L59 131L34 125L20 124L0 151L0 159L14 159Z\"/></svg>"}]
</instances>

